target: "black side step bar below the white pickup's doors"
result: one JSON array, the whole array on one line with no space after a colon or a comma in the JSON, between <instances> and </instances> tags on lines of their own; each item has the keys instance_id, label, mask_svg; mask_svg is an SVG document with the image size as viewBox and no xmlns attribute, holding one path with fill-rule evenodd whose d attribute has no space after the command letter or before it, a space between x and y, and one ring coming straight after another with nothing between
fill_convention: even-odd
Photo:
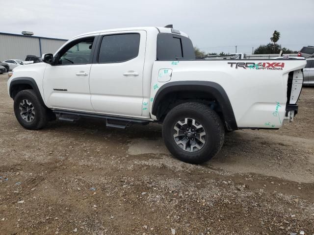
<instances>
[{"instance_id":1,"label":"black side step bar below the white pickup's doors","mask_svg":"<svg viewBox=\"0 0 314 235\"><path fill-rule=\"evenodd\" d=\"M123 117L115 117L115 116L109 116L109 115L81 113L81 112L58 110L58 109L52 110L52 112L56 115L56 117L59 120L63 120L63 121L73 122L82 117L101 118L101 119L106 119L106 126L122 128L122 129L125 129L126 127L131 126L131 124L146 125L150 122L149 120L142 120L142 119L135 119L135 118L123 118Z\"/></svg>"}]
</instances>

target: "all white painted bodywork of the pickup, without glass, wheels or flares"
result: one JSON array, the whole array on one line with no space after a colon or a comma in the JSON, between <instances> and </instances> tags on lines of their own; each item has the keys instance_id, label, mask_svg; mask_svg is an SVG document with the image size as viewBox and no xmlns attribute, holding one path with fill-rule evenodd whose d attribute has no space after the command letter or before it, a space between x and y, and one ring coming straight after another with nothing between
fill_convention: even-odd
<instances>
[{"instance_id":1,"label":"all white painted bodywork of the pickup, without glass, wheels or flares","mask_svg":"<svg viewBox=\"0 0 314 235\"><path fill-rule=\"evenodd\" d=\"M171 32L169 28L158 29L161 32ZM74 37L67 43L85 36L131 31L140 32L141 40L138 57L130 61L68 66L37 63L20 66L14 69L8 80L8 88L15 77L32 77L49 108L156 120L151 114L152 104L157 91L164 84L174 81L211 81L219 84L228 95L238 127L282 126L287 102L288 72L303 69L305 60L280 61L285 63L283 70L235 69L228 64L261 63L262 60L156 61L156 27L91 32ZM159 77L159 72L164 70L171 73ZM76 76L78 71L86 71L88 76ZM123 73L128 71L136 71L139 75L124 76ZM53 88L65 88L68 91L55 93Z\"/></svg>"}]
</instances>

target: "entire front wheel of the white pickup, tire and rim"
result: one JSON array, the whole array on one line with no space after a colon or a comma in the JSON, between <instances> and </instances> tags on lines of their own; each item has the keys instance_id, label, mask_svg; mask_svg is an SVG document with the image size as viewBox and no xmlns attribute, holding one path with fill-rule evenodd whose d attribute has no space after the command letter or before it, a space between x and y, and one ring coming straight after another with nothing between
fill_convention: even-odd
<instances>
[{"instance_id":1,"label":"entire front wheel of the white pickup, tire and rim","mask_svg":"<svg viewBox=\"0 0 314 235\"><path fill-rule=\"evenodd\" d=\"M14 113L19 123L29 130L43 128L48 121L47 108L34 90L23 90L15 95Z\"/></svg>"}]
</instances>

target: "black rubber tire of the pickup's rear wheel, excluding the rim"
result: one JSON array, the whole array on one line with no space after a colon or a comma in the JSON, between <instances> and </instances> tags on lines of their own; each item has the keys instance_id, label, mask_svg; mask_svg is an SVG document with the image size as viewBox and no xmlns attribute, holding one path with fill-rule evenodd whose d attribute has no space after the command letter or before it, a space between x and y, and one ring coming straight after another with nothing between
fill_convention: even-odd
<instances>
[{"instance_id":1,"label":"black rubber tire of the pickup's rear wheel, excluding the rim","mask_svg":"<svg viewBox=\"0 0 314 235\"><path fill-rule=\"evenodd\" d=\"M176 138L183 138L183 141L185 141L184 138L190 137L187 136L187 132L183 132L184 135L185 133L187 134L182 136L182 131L185 130L183 125L181 126L181 129L179 128L180 131L178 131L178 128L177 131L174 128L175 126L178 127L178 121L180 120L191 122L193 119L195 123L201 124L203 128L196 128L194 132L195 134L193 135L198 135L196 130L198 130L198 133L202 132L202 134L205 132L206 135L204 138L200 135L200 138L203 138L202 141L205 141L205 143L196 139L199 137L194 137L194 144L198 141L198 143L200 143L198 146L200 147L200 145L202 145L199 149L198 147L194 147L194 144L192 144L193 138L186 139L186 141L191 141L189 142L189 151L183 150L184 145L182 144L182 147L180 147L180 145L177 144L174 134L179 134L180 132L180 137ZM193 129L190 129L189 131L191 130ZM219 116L213 110L209 109L207 105L198 102L187 102L176 106L167 114L162 126L162 137L167 148L176 158L187 163L201 164L209 161L209 159L214 157L221 149L225 138L225 130ZM181 140L179 139L179 142L180 141ZM185 145L188 146L188 144ZM194 149L195 151L193 151Z\"/></svg>"}]
</instances>

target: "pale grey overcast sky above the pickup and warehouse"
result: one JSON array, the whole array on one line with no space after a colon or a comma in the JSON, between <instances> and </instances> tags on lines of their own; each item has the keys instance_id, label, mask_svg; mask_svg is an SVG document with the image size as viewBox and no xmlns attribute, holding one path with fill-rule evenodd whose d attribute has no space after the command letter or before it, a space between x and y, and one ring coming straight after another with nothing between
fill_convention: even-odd
<instances>
[{"instance_id":1,"label":"pale grey overcast sky above the pickup and warehouse","mask_svg":"<svg viewBox=\"0 0 314 235\"><path fill-rule=\"evenodd\" d=\"M314 0L0 0L0 32L70 39L121 27L165 26L187 33L206 52L252 53L270 42L314 46Z\"/></svg>"}]
</instances>

